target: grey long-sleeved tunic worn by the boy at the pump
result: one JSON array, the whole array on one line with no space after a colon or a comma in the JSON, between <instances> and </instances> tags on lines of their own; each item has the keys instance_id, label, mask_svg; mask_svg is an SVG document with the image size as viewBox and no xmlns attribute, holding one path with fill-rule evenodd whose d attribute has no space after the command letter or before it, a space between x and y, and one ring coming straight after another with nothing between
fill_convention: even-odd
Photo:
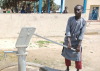
<instances>
[{"instance_id":1,"label":"grey long-sleeved tunic worn by the boy at the pump","mask_svg":"<svg viewBox=\"0 0 100 71\"><path fill-rule=\"evenodd\" d=\"M86 29L86 20L84 18L81 17L81 19L76 20L75 16L70 17L66 27L66 36L64 39L64 45L67 45L68 43L67 37L70 37L72 47L75 47L75 45L77 45L79 41L83 39L85 29ZM82 49L82 44L80 48ZM81 49L80 52L75 52L67 48L63 48L62 56L68 60L81 61Z\"/></svg>"}]
</instances>

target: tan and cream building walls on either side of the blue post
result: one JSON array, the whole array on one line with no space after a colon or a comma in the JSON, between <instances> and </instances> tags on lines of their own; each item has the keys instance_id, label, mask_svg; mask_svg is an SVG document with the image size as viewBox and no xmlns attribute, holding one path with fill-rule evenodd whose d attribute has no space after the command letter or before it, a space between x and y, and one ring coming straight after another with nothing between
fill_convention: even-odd
<instances>
[{"instance_id":1,"label":"tan and cream building walls on either side of the blue post","mask_svg":"<svg viewBox=\"0 0 100 71\"><path fill-rule=\"evenodd\" d=\"M69 13L74 13L74 7L77 4L83 6L84 0L65 0L65 6L68 7ZM100 20L100 0L87 0L86 6L86 19L89 19L89 14L91 13L93 7L99 7L98 20Z\"/></svg>"}]
</instances>

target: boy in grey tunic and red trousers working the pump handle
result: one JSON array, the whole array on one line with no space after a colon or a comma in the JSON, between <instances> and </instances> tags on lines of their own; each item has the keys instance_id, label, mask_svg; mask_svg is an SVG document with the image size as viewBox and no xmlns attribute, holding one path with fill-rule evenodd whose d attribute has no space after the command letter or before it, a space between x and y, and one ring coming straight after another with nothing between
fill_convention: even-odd
<instances>
[{"instance_id":1,"label":"boy in grey tunic and red trousers working the pump handle","mask_svg":"<svg viewBox=\"0 0 100 71\"><path fill-rule=\"evenodd\" d=\"M66 37L64 39L64 45L67 45L68 49L64 48L62 51L62 56L65 57L65 64L67 66L66 71L69 71L71 60L75 61L77 71L79 71L79 69L82 69L81 43L86 29L86 20L81 17L82 12L83 7L81 5L76 5L74 8L75 16L69 18L66 27ZM76 52L70 50L71 48L76 49Z\"/></svg>"}]
</instances>

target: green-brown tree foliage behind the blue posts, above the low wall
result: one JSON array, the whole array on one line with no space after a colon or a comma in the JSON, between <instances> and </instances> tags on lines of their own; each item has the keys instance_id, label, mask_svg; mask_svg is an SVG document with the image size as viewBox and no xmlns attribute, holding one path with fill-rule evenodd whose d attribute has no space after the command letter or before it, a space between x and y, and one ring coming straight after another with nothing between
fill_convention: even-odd
<instances>
[{"instance_id":1,"label":"green-brown tree foliage behind the blue posts, above the low wall","mask_svg":"<svg viewBox=\"0 0 100 71\"><path fill-rule=\"evenodd\" d=\"M48 1L49 0L42 0L42 10L48 12ZM20 11L22 9L22 6L27 6L27 4L30 4L31 10L34 11L34 2L33 1L18 1L17 2L17 8ZM1 0L0 1L0 6L5 9L5 8L13 8L14 11L15 9L15 0ZM50 10L55 11L59 8L58 5L54 3L54 0L50 0ZM35 9L36 11L39 10L39 1L35 2Z\"/></svg>"}]
</instances>

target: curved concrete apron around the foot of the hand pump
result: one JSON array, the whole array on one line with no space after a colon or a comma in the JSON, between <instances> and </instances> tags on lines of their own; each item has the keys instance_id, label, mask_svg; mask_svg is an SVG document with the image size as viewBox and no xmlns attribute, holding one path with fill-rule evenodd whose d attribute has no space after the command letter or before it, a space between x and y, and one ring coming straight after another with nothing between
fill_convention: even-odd
<instances>
[{"instance_id":1,"label":"curved concrete apron around the foot of the hand pump","mask_svg":"<svg viewBox=\"0 0 100 71\"><path fill-rule=\"evenodd\" d=\"M7 64L0 67L0 71L18 71L18 63ZM63 71L52 69L40 64L26 62L26 71Z\"/></svg>"}]
</instances>

